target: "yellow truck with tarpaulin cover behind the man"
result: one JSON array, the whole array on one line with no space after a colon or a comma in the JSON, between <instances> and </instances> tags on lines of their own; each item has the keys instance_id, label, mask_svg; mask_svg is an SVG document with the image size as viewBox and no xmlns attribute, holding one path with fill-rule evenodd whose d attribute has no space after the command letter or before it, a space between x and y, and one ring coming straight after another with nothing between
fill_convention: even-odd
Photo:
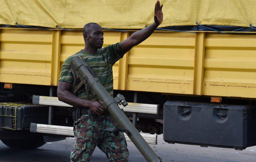
<instances>
[{"instance_id":1,"label":"yellow truck with tarpaulin cover behind the man","mask_svg":"<svg viewBox=\"0 0 256 162\"><path fill-rule=\"evenodd\" d=\"M114 94L138 130L168 143L256 145L255 2L161 2L163 23L113 66ZM154 1L1 4L0 139L16 148L72 136L56 90L63 62L84 47L84 24L100 24L106 46L153 22Z\"/></svg>"}]
</instances>

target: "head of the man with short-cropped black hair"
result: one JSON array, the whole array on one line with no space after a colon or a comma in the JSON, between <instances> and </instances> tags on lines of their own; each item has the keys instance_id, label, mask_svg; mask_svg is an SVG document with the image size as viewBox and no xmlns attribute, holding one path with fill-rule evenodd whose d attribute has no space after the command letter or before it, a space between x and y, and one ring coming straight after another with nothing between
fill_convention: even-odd
<instances>
[{"instance_id":1,"label":"head of the man with short-cropped black hair","mask_svg":"<svg viewBox=\"0 0 256 162\"><path fill-rule=\"evenodd\" d=\"M83 37L86 46L99 49L103 45L103 30L99 24L90 22L84 25Z\"/></svg>"}]
</instances>

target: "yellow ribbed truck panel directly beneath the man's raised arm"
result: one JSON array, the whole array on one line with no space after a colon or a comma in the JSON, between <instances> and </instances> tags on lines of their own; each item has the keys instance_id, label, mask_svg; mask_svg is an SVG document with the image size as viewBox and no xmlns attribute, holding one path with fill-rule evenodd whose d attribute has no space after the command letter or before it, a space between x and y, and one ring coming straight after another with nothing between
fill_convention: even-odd
<instances>
[{"instance_id":1,"label":"yellow ribbed truck panel directly beneath the man's raised arm","mask_svg":"<svg viewBox=\"0 0 256 162\"><path fill-rule=\"evenodd\" d=\"M194 33L154 32L129 51L127 89L193 94Z\"/></svg>"}]
</instances>

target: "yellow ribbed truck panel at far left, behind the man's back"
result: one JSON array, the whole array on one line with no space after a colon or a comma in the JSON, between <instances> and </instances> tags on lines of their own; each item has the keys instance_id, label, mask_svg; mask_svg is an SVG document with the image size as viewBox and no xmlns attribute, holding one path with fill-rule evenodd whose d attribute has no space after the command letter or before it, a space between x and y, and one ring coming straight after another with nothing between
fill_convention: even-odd
<instances>
[{"instance_id":1,"label":"yellow ribbed truck panel at far left, behind the man's back","mask_svg":"<svg viewBox=\"0 0 256 162\"><path fill-rule=\"evenodd\" d=\"M0 82L50 85L51 33L2 29Z\"/></svg>"}]
</instances>

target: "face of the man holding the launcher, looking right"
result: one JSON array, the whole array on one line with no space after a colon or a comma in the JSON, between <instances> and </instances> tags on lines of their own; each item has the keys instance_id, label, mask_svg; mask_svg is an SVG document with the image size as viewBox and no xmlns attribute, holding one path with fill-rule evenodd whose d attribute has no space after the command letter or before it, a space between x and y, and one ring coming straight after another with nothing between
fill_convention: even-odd
<instances>
[{"instance_id":1,"label":"face of the man holding the launcher, looking right","mask_svg":"<svg viewBox=\"0 0 256 162\"><path fill-rule=\"evenodd\" d=\"M90 47L100 49L103 45L103 30L99 25L90 26L88 44Z\"/></svg>"}]
</instances>

